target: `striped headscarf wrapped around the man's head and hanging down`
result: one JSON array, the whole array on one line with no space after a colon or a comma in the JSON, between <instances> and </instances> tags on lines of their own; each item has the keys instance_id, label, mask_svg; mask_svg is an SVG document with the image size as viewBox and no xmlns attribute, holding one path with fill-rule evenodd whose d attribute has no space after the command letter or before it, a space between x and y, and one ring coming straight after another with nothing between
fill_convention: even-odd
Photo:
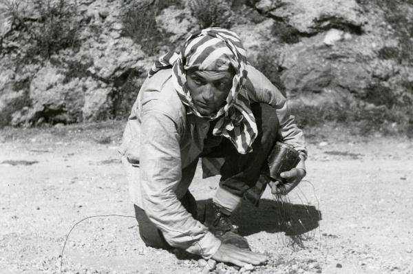
<instances>
[{"instance_id":1,"label":"striped headscarf wrapped around the man's head and hanging down","mask_svg":"<svg viewBox=\"0 0 413 274\"><path fill-rule=\"evenodd\" d=\"M235 71L233 85L226 98L226 105L218 109L213 116L202 116L193 104L187 85L186 71L197 70L226 71L232 67ZM251 112L250 102L244 83L246 81L246 51L240 37L224 28L207 28L189 36L180 50L161 56L149 71L149 77L172 68L173 85L189 112L209 120L218 119L213 128L213 135L224 136L231 140L240 154L252 151L252 144L257 137L257 125Z\"/></svg>"}]
</instances>

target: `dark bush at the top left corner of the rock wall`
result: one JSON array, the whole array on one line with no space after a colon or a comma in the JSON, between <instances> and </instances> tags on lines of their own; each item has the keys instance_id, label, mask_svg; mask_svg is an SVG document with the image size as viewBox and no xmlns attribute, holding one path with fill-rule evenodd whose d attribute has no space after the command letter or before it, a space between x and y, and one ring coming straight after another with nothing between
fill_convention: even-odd
<instances>
[{"instance_id":1,"label":"dark bush at the top left corner of the rock wall","mask_svg":"<svg viewBox=\"0 0 413 274\"><path fill-rule=\"evenodd\" d=\"M32 9L37 17L34 21L26 19L27 7L22 1L10 1L8 16L14 28L28 34L31 44L26 56L42 56L49 59L52 54L65 48L78 48L80 21L76 17L76 4L64 0L34 0ZM23 36L19 36L21 39Z\"/></svg>"}]
</instances>

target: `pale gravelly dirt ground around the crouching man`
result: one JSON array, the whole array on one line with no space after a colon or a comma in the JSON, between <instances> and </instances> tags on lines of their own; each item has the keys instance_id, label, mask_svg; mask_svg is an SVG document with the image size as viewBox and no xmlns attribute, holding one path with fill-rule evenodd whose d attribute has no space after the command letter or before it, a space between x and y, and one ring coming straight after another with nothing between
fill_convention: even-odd
<instances>
[{"instance_id":1,"label":"pale gravelly dirt ground around the crouching man","mask_svg":"<svg viewBox=\"0 0 413 274\"><path fill-rule=\"evenodd\" d=\"M0 273L60 273L76 222L134 214L116 150L122 128L1 129ZM244 202L234 219L269 261L240 272L413 273L412 140L332 131L309 134L306 179L314 188L302 182L288 196L297 212L316 218L306 226L304 247L288 244L267 190L258 209ZM202 180L199 171L191 191L198 200L211 198L219 178ZM62 272L201 273L199 259L145 247L134 218L96 217L74 227ZM224 264L215 269L237 272Z\"/></svg>"}]
</instances>

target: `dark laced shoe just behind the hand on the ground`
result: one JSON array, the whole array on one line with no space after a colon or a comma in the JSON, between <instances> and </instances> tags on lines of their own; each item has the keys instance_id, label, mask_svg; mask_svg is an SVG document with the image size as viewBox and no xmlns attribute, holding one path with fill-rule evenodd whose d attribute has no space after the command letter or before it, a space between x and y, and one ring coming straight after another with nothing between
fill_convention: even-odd
<instances>
[{"instance_id":1,"label":"dark laced shoe just behind the hand on the ground","mask_svg":"<svg viewBox=\"0 0 413 274\"><path fill-rule=\"evenodd\" d=\"M238 226L232 224L231 215L224 213L218 204L212 203L212 207L207 206L205 225L223 244L233 244L240 249L250 249L248 241L238 234Z\"/></svg>"}]
</instances>

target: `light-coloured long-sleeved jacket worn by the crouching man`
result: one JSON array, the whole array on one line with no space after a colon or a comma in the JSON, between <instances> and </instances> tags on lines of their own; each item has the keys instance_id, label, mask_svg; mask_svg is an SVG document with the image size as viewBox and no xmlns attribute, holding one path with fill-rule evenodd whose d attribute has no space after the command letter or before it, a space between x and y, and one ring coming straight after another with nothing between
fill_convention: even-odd
<instances>
[{"instance_id":1,"label":"light-coloured long-sleeved jacket worn by the crouching man","mask_svg":"<svg viewBox=\"0 0 413 274\"><path fill-rule=\"evenodd\" d=\"M247 66L246 89L251 103L277 109L280 136L306 158L304 135L288 112L286 98L268 78ZM209 122L188 114L173 89L169 70L161 70L143 83L131 109L120 154L127 165L131 200L145 210L171 246L211 257L220 240L193 219L179 199L193 175L182 174L204 148Z\"/></svg>"}]
</instances>

